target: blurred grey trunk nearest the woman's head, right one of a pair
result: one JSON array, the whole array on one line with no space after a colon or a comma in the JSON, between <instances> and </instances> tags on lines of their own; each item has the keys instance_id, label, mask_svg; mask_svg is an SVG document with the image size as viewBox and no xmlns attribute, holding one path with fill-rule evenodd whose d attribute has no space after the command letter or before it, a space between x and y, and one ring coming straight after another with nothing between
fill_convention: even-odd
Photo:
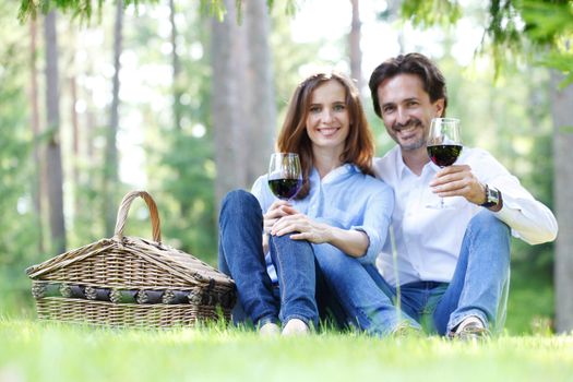
<instances>
[{"instance_id":1,"label":"blurred grey trunk nearest the woman's head, right one of a pair","mask_svg":"<svg viewBox=\"0 0 573 382\"><path fill-rule=\"evenodd\" d=\"M249 162L247 182L267 171L270 154L273 152L276 131L276 104L273 82L273 65L268 35L271 21L264 0L251 0L243 4L247 26L249 70L247 71L249 103ZM240 97L240 95L238 95ZM240 98L239 98L240 99Z\"/></svg>"}]
</instances>

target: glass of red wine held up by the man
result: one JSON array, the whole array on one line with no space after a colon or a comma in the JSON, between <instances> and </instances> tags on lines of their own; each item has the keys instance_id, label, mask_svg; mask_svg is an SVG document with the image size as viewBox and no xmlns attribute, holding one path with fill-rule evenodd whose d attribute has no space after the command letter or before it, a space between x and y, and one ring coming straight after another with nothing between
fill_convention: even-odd
<instances>
[{"instance_id":1,"label":"glass of red wine held up by the man","mask_svg":"<svg viewBox=\"0 0 573 382\"><path fill-rule=\"evenodd\" d=\"M459 119L433 118L427 143L430 160L441 168L451 166L462 154L462 147ZM440 198L440 208L443 207L443 198Z\"/></svg>"}]
</instances>

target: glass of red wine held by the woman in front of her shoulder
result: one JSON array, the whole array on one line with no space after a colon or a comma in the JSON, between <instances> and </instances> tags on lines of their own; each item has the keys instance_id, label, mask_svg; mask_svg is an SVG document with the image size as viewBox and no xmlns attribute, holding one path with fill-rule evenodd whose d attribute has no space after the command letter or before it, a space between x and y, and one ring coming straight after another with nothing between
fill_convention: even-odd
<instances>
[{"instance_id":1,"label":"glass of red wine held by the woman in front of her shoulder","mask_svg":"<svg viewBox=\"0 0 573 382\"><path fill-rule=\"evenodd\" d=\"M274 153L268 164L268 188L280 200L289 201L302 187L300 159L295 153Z\"/></svg>"}]
</instances>

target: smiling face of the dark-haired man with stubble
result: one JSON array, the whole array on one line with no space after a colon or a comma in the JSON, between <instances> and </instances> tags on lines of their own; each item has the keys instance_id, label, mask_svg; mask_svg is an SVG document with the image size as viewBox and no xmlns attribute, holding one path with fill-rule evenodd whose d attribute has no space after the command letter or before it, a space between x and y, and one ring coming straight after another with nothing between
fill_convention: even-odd
<instances>
[{"instance_id":1,"label":"smiling face of the dark-haired man with stubble","mask_svg":"<svg viewBox=\"0 0 573 382\"><path fill-rule=\"evenodd\" d=\"M378 86L378 99L387 133L403 151L426 147L432 118L443 114L443 99L430 102L415 74L398 74Z\"/></svg>"}]
</instances>

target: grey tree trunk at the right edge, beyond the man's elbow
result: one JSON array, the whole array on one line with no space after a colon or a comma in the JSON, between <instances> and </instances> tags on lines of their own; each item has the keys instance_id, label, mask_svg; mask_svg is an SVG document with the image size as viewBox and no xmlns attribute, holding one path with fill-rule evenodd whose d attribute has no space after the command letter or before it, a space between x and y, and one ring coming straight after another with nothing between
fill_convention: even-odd
<instances>
[{"instance_id":1,"label":"grey tree trunk at the right edge, beyond the man's elbow","mask_svg":"<svg viewBox=\"0 0 573 382\"><path fill-rule=\"evenodd\" d=\"M551 73L553 117L553 198L559 223L556 242L556 331L573 330L573 85L558 89L563 75Z\"/></svg>"}]
</instances>

